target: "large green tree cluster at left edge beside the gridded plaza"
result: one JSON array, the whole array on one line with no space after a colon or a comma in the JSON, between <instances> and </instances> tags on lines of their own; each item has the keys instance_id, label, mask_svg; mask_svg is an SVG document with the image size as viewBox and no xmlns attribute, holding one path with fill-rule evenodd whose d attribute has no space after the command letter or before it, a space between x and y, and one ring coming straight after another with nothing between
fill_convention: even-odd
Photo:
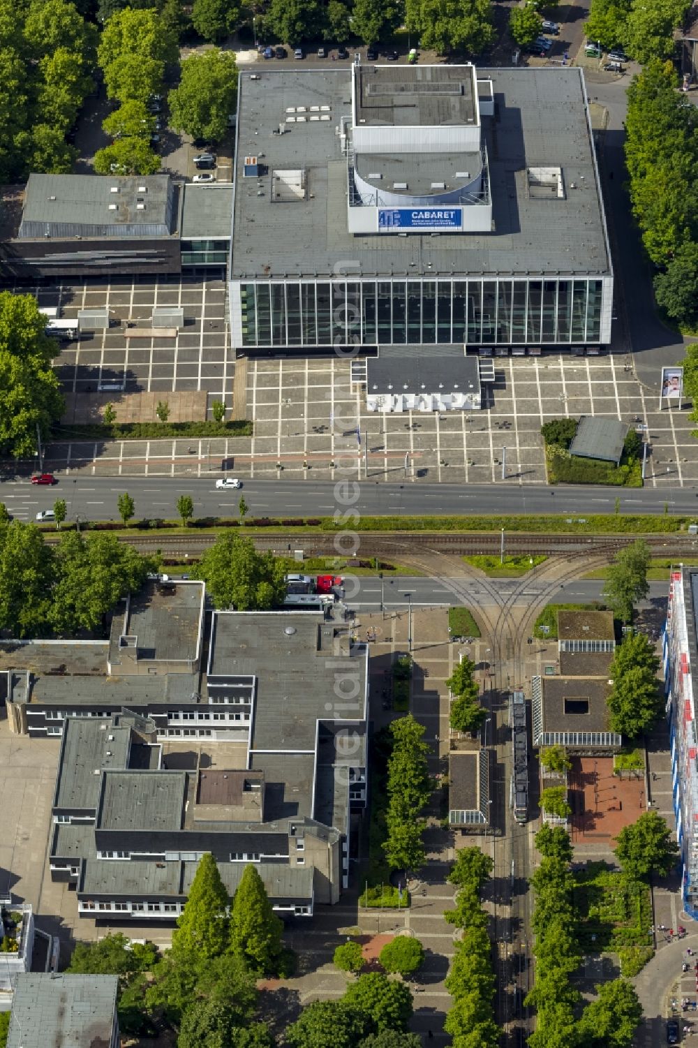
<instances>
[{"instance_id":1,"label":"large green tree cluster at left edge beside the gridded plaza","mask_svg":"<svg viewBox=\"0 0 698 1048\"><path fill-rule=\"evenodd\" d=\"M45 328L32 294L0 291L0 449L17 458L34 455L37 425L45 437L64 410Z\"/></svg>"}]
</instances>

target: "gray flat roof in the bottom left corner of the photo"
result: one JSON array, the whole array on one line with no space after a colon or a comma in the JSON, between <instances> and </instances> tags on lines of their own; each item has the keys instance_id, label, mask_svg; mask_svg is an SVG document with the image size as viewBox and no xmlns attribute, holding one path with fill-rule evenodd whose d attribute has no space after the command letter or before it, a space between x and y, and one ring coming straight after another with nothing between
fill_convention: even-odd
<instances>
[{"instance_id":1,"label":"gray flat roof in the bottom left corner of the photo","mask_svg":"<svg viewBox=\"0 0 698 1048\"><path fill-rule=\"evenodd\" d=\"M7 1048L108 1048L117 988L116 976L18 975Z\"/></svg>"}]
</instances>

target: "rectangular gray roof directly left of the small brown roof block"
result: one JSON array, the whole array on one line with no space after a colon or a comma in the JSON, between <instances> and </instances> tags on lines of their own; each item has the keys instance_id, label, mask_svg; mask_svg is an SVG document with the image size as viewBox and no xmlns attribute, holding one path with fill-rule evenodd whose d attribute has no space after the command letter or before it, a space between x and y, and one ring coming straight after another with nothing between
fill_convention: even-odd
<instances>
[{"instance_id":1,"label":"rectangular gray roof directly left of the small brown roof block","mask_svg":"<svg viewBox=\"0 0 698 1048\"><path fill-rule=\"evenodd\" d=\"M107 771L96 815L101 830L179 830L186 771Z\"/></svg>"}]
</instances>

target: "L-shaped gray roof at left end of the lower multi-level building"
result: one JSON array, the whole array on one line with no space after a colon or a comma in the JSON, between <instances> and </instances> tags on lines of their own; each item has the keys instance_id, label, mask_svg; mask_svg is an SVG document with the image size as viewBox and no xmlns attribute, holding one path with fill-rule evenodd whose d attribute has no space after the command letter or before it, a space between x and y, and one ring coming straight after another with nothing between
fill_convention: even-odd
<instances>
[{"instance_id":1,"label":"L-shaped gray roof at left end of the lower multi-level building","mask_svg":"<svg viewBox=\"0 0 698 1048\"><path fill-rule=\"evenodd\" d=\"M103 768L126 768L130 727L66 718L56 783L57 808L96 809Z\"/></svg>"}]
</instances>

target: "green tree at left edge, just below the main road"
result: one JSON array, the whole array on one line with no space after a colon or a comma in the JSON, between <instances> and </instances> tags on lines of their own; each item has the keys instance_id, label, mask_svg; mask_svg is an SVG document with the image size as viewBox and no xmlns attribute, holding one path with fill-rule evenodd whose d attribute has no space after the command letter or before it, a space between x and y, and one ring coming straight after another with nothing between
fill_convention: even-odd
<instances>
[{"instance_id":1,"label":"green tree at left edge, just below the main road","mask_svg":"<svg viewBox=\"0 0 698 1048\"><path fill-rule=\"evenodd\" d=\"M0 630L14 637L40 636L46 628L53 552L34 524L0 528Z\"/></svg>"}]
</instances>

